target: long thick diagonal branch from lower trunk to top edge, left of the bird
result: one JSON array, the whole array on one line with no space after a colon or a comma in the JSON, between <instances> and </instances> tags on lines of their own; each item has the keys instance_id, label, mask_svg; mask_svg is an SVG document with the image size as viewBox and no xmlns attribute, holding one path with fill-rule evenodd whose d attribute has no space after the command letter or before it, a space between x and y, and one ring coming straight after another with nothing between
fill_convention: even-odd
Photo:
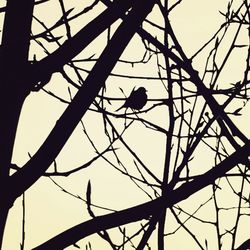
<instances>
[{"instance_id":1,"label":"long thick diagonal branch from lower trunk to top edge, left of the bird","mask_svg":"<svg viewBox=\"0 0 250 250\"><path fill-rule=\"evenodd\" d=\"M22 169L11 176L9 189L11 190L11 195L13 195L13 200L27 190L48 169L82 116L88 110L117 60L136 32L137 27L151 11L153 0L143 3L143 7L137 6L140 4L142 4L142 0L135 1L135 8L131 10L119 26L98 62L88 75L84 85L57 121L43 145Z\"/></svg>"}]
</instances>

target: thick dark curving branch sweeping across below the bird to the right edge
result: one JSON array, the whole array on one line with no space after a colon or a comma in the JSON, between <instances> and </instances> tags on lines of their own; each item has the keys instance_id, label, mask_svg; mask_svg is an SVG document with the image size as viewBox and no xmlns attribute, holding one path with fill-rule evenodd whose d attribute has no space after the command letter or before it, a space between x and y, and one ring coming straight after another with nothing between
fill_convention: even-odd
<instances>
[{"instance_id":1,"label":"thick dark curving branch sweeping across below the bird to the right edge","mask_svg":"<svg viewBox=\"0 0 250 250\"><path fill-rule=\"evenodd\" d=\"M95 217L94 219L83 222L64 231L42 245L34 248L34 250L63 249L93 233L148 218L155 213L159 213L162 209L171 207L174 204L187 199L197 191L214 183L217 178L224 176L225 173L232 169L236 164L244 161L249 154L250 141L205 174L200 175L193 181L187 182L176 190L169 192L165 197L160 197L156 200L119 212Z\"/></svg>"}]
</instances>

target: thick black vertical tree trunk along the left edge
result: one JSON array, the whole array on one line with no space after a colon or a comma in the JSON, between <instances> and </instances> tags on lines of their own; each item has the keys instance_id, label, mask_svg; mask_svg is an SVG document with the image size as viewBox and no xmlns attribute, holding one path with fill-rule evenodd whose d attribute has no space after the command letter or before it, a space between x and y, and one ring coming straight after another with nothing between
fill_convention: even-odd
<instances>
[{"instance_id":1,"label":"thick black vertical tree trunk along the left edge","mask_svg":"<svg viewBox=\"0 0 250 250\"><path fill-rule=\"evenodd\" d=\"M28 68L34 0L8 0L0 50L0 248L8 211L14 202L10 163L21 108L29 93Z\"/></svg>"}]
</instances>

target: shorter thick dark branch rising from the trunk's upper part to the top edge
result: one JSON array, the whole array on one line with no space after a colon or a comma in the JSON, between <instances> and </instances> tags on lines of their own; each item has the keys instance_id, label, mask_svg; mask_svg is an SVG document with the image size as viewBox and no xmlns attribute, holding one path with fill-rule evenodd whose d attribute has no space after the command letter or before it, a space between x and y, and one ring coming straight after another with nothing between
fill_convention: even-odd
<instances>
[{"instance_id":1,"label":"shorter thick dark branch rising from the trunk's upper part to the top edge","mask_svg":"<svg viewBox=\"0 0 250 250\"><path fill-rule=\"evenodd\" d=\"M31 88L41 79L49 76L77 56L90 42L114 23L132 6L131 0L116 0L93 21L83 27L76 35L62 44L56 51L31 66L29 80Z\"/></svg>"}]
</instances>

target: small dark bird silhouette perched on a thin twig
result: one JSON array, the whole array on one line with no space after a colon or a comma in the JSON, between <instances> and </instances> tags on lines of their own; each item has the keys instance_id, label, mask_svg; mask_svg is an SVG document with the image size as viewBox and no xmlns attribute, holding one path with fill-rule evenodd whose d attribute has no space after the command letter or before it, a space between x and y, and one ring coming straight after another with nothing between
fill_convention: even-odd
<instances>
[{"instance_id":1,"label":"small dark bird silhouette perched on a thin twig","mask_svg":"<svg viewBox=\"0 0 250 250\"><path fill-rule=\"evenodd\" d=\"M142 109L147 103L147 90L144 87L140 87L137 90L133 88L129 97L126 99L125 103L118 108L116 111L121 110L122 108L131 108L135 110Z\"/></svg>"}]
</instances>

